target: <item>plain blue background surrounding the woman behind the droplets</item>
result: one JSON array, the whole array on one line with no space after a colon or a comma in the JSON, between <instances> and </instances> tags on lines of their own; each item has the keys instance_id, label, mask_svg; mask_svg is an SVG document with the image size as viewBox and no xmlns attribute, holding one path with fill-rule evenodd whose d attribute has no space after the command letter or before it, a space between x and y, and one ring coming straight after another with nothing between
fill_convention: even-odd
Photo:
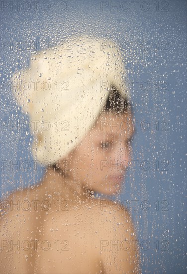
<instances>
[{"instance_id":1,"label":"plain blue background surrounding the woman behind the droplets","mask_svg":"<svg viewBox=\"0 0 187 274\"><path fill-rule=\"evenodd\" d=\"M51 44L73 34L114 38L125 57L134 116L140 121L133 142L137 169L129 169L123 192L117 198L128 201L142 247L143 273L186 273L187 2L150 0L146 1L150 5L147 11L143 1L137 1L136 9L131 1L126 1L127 6L124 1L70 0L66 1L67 8L63 1L59 6L57 1L49 1L49 6L41 1L37 8L12 2L18 2L19 9L13 8L10 1L6 1L7 7L1 2L1 198L16 188L39 183L44 173L39 165L36 170L33 165L28 170L2 169L3 160L32 160L30 132L16 127L5 129L2 122L28 120L12 100L8 80L16 68L28 66L32 50L10 48L10 42L47 40ZM112 7L112 3L119 6ZM125 10L127 7L129 10ZM134 49L132 40L145 41L148 48ZM139 81L136 89L134 80ZM149 82L148 90L141 87L143 81ZM159 87L156 81L160 81ZM144 120L150 125L147 131L140 125ZM163 130L163 121L167 131ZM149 161L148 170L140 166L143 160ZM167 162L167 171L162 170L162 161ZM133 200L139 201L136 210ZM149 210L142 204L145 200ZM143 241L150 244L147 250Z\"/></svg>"}]
</instances>

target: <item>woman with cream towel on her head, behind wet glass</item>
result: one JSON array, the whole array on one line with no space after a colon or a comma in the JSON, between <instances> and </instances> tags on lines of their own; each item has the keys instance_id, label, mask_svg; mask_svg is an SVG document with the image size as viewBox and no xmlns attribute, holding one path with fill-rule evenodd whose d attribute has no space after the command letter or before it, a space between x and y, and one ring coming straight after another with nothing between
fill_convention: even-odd
<instances>
[{"instance_id":1,"label":"woman with cream towel on her head, behind wet glass","mask_svg":"<svg viewBox=\"0 0 187 274\"><path fill-rule=\"evenodd\" d=\"M14 75L18 104L43 122L32 151L48 166L3 203L0 273L140 272L131 216L107 198L120 192L133 127L122 57L102 42L74 37L67 52L39 52Z\"/></svg>"}]
</instances>

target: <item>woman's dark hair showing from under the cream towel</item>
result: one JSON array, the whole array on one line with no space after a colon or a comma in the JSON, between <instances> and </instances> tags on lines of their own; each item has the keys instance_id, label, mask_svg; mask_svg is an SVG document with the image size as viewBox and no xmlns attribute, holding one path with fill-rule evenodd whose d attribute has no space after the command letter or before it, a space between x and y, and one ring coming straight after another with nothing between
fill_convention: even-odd
<instances>
[{"instance_id":1,"label":"woman's dark hair showing from under the cream towel","mask_svg":"<svg viewBox=\"0 0 187 274\"><path fill-rule=\"evenodd\" d=\"M125 113L132 113L132 105L127 100L126 97L124 97L119 90L112 86L108 98L105 103L105 108L103 109L105 112L111 111L112 113L116 114L125 114ZM103 112L102 111L102 112ZM54 168L58 172L62 172L60 168L57 166L57 163L54 163L50 165L50 167Z\"/></svg>"}]
</instances>

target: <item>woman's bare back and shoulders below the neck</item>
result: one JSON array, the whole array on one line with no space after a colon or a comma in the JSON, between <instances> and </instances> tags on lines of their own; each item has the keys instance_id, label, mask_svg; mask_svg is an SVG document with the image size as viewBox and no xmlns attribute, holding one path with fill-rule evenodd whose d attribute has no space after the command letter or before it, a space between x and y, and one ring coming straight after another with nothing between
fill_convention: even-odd
<instances>
[{"instance_id":1,"label":"woman's bare back and shoulders below the neck","mask_svg":"<svg viewBox=\"0 0 187 274\"><path fill-rule=\"evenodd\" d=\"M136 240L130 215L111 209L109 200L69 201L36 186L11 194L8 203L0 273L136 272L137 250L123 245Z\"/></svg>"}]
</instances>

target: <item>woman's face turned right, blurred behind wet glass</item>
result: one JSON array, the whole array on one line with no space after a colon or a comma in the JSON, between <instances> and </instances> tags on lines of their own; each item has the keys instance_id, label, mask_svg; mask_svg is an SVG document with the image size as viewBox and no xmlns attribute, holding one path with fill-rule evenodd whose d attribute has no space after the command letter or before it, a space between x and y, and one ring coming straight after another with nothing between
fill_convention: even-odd
<instances>
[{"instance_id":1,"label":"woman's face turned right, blurred behind wet glass","mask_svg":"<svg viewBox=\"0 0 187 274\"><path fill-rule=\"evenodd\" d=\"M106 195L120 191L131 161L131 119L130 114L101 114L92 131L69 155L68 173L75 183ZM63 166L62 161L60 168Z\"/></svg>"}]
</instances>

